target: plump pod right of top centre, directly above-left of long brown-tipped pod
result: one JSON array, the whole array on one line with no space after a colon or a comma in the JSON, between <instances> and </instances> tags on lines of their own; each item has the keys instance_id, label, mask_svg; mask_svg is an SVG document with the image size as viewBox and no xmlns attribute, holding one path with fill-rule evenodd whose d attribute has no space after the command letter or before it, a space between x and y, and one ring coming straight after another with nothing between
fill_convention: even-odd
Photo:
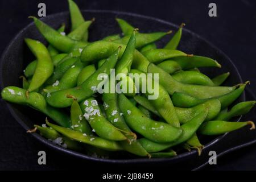
<instances>
[{"instance_id":1,"label":"plump pod right of top centre, directly above-left of long brown-tipped pod","mask_svg":"<svg viewBox=\"0 0 256 182\"><path fill-rule=\"evenodd\" d=\"M188 56L187 53L169 49L152 49L144 51L143 55L147 57L148 61L150 61L151 63L160 63L164 60L171 59L174 57Z\"/></svg>"}]
</instances>

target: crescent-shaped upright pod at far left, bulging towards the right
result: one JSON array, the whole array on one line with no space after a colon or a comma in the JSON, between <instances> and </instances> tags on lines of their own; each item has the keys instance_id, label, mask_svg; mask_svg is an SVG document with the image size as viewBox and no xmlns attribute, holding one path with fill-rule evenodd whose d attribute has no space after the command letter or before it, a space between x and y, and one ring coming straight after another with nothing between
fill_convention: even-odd
<instances>
[{"instance_id":1,"label":"crescent-shaped upright pod at far left, bulging towards the right","mask_svg":"<svg viewBox=\"0 0 256 182\"><path fill-rule=\"evenodd\" d=\"M28 92L38 89L53 73L53 63L49 52L38 40L25 39L27 46L36 56L38 63L36 64L35 73L32 77Z\"/></svg>"}]
</instances>

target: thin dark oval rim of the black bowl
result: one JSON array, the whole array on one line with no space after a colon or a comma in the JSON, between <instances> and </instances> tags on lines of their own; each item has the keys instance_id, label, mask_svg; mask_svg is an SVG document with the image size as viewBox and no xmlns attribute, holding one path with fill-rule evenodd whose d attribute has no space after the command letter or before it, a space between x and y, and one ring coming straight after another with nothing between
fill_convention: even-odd
<instances>
[{"instance_id":1,"label":"thin dark oval rim of the black bowl","mask_svg":"<svg viewBox=\"0 0 256 182\"><path fill-rule=\"evenodd\" d=\"M149 20L153 20L156 22L160 22L163 24L167 24L169 26L172 27L176 27L179 28L179 26L177 26L174 23L168 22L166 20L163 19L159 19L159 18L154 18L152 16L147 16L147 15L141 15L141 14L137 14L137 13L129 13L129 12L125 12L125 11L114 11L114 10L81 10L81 13L111 13L111 14L115 14L115 15L128 15L128 16L135 16L138 18L143 18L143 19L149 19ZM55 13L55 14L51 14L51 15L47 15L46 17L40 18L42 20L46 20L48 18L52 18L54 16L61 16L61 15L67 15L69 14L68 11L63 11L61 13ZM0 88L1 90L4 88L3 85L3 78L2 78L2 68L3 68L3 58L6 55L7 50L10 49L11 45L16 41L16 39L18 39L19 35L22 34L22 32L26 31L28 28L30 28L34 23L31 22L29 24L27 24L26 27L22 28L22 30L20 30L13 39L11 39L11 41L9 42L8 46L3 50L2 52L2 56L0 58ZM197 39L202 40L203 42L207 43L210 47L212 47L213 49L216 49L218 51L218 53L220 53L222 56L225 57L226 60L228 60L230 62L230 64L232 64L232 66L234 67L234 70L237 73L237 76L240 80L240 82L242 82L242 78L240 73L238 72L238 69L236 67L236 65L233 63L233 61L224 53L222 52L219 48L217 48L216 46L214 46L212 43L210 43L207 39L201 37L200 35L196 34L193 31L188 30L187 28L183 28L183 31L188 32L189 34L191 34L192 36L195 36ZM245 93L242 93L242 100L245 101ZM13 115L13 117L16 119L16 121L18 121L18 123L25 129L25 130L29 130L30 127L28 127L23 121L22 119L20 119L18 117L18 115L16 115L13 106L9 103L9 102L5 102L7 104L8 109L10 110L11 115ZM240 121L241 117L238 118L238 121ZM226 133L227 134L227 133ZM220 135L216 138L214 138L211 142L205 144L204 149L203 150L207 150L208 147L212 146L213 144L217 143L219 140L223 139L225 137L226 134ZM49 140L47 140L46 138L42 137L40 134L38 133L31 133L31 135L36 138L37 140L39 140L40 142L42 142L43 144L45 144L47 147L53 148L53 150L56 151L61 151L64 152L65 154L69 154L72 156L75 156L76 158L80 158L80 159L86 159L86 160L90 160L90 161L94 161L94 162L104 162L104 163L118 163L118 164L122 164L122 163L129 163L129 164L133 164L133 163L154 163L154 162L171 162L174 160L179 160L179 159L184 159L185 157L191 156L191 155L196 155L197 151L196 150L191 150L188 152L184 152L182 154L179 154L177 156L174 156L172 158L153 158L153 159L148 159L148 158L134 158L134 159L101 159L101 158L95 158L93 156L89 156L86 154L82 154L80 152L76 152L73 150L69 150L68 148L63 148L61 146L58 146L56 144L54 144L53 142L49 142Z\"/></svg>"}]
</instances>

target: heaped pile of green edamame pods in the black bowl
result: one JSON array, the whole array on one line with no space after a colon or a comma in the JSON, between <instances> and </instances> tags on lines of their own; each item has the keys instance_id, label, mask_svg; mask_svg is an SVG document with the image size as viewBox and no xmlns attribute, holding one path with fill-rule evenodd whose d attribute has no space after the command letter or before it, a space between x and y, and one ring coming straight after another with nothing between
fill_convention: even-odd
<instances>
[{"instance_id":1,"label":"heaped pile of green edamame pods in the black bowl","mask_svg":"<svg viewBox=\"0 0 256 182\"><path fill-rule=\"evenodd\" d=\"M248 82L220 86L229 73L209 78L198 69L220 68L216 60L177 50L184 24L163 48L155 42L170 31L142 33L123 19L116 19L122 36L88 42L94 19L85 20L76 3L68 3L69 34L64 24L55 30L30 17L49 46L25 39L36 60L24 69L23 88L7 86L1 92L3 100L46 114L49 121L28 132L39 131L63 147L98 156L105 151L125 151L169 158L180 148L195 148L200 155L204 147L200 138L205 135L221 135L246 125L255 128L252 121L232 122L255 105L247 101L230 107ZM158 98L149 100L150 92L135 92L142 85L135 85L128 94L98 93L98 75L109 76L112 69L126 75L122 84L134 84L128 73L158 73Z\"/></svg>"}]
</instances>

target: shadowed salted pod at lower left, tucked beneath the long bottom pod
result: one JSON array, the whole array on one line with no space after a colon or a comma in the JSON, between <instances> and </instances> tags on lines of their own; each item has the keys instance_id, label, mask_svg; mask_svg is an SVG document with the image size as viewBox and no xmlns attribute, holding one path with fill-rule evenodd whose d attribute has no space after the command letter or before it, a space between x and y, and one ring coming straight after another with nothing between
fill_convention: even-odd
<instances>
[{"instance_id":1,"label":"shadowed salted pod at lower left, tucked beneath the long bottom pod","mask_svg":"<svg viewBox=\"0 0 256 182\"><path fill-rule=\"evenodd\" d=\"M47 138L48 140L51 140L53 143L57 143L60 146L64 148L69 148L71 150L76 150L76 151L82 150L82 147L79 145L78 142L76 142L75 140L71 140L68 137L64 137L60 135L59 133L57 133L56 130L50 127L46 127L46 126L42 127L39 125L34 125L34 127L36 128L36 130L39 131L40 135Z\"/></svg>"}]
</instances>

